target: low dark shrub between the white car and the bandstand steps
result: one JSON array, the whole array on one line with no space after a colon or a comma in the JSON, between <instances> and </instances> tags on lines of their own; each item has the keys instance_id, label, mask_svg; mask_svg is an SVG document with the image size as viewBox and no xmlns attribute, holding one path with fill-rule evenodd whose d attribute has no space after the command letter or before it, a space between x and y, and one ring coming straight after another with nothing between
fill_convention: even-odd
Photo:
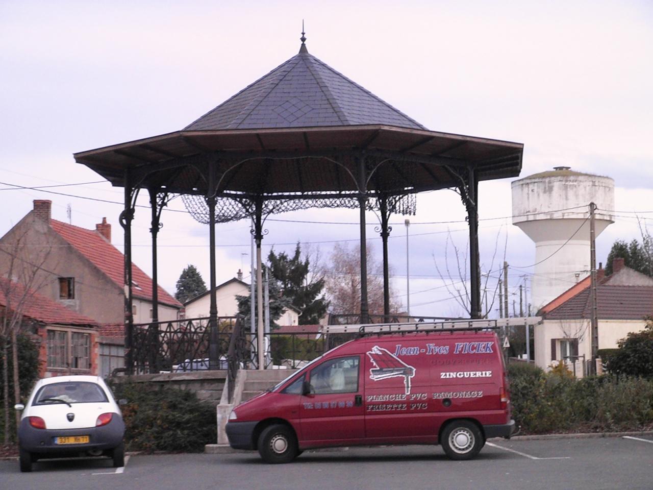
<instances>
[{"instance_id":1,"label":"low dark shrub between the white car and the bandstand steps","mask_svg":"<svg viewBox=\"0 0 653 490\"><path fill-rule=\"evenodd\" d=\"M217 439L215 409L195 393L176 388L144 389L142 384L116 384L122 407L125 442L133 451L200 452Z\"/></svg>"}]
</instances>

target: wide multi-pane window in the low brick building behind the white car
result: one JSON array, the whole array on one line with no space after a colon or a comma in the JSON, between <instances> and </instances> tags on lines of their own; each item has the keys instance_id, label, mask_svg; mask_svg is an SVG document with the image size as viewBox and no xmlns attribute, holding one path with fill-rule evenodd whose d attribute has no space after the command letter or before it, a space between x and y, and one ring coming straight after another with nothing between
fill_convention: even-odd
<instances>
[{"instance_id":1,"label":"wide multi-pane window in the low brick building behind the white car","mask_svg":"<svg viewBox=\"0 0 653 490\"><path fill-rule=\"evenodd\" d=\"M48 330L48 368L91 368L91 335Z\"/></svg>"}]
</instances>

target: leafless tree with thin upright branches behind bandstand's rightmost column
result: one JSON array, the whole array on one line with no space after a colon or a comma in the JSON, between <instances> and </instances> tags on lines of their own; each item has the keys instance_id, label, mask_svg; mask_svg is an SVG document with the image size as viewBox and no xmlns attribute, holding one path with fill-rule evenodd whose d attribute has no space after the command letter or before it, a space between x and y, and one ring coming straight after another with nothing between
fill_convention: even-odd
<instances>
[{"instance_id":1,"label":"leafless tree with thin upright branches behind bandstand's rightmost column","mask_svg":"<svg viewBox=\"0 0 653 490\"><path fill-rule=\"evenodd\" d=\"M489 267L486 267L484 264L481 264L481 270L487 270L481 274L481 290L490 291L490 295L483 294L481 295L481 312L483 316L488 318L488 315L494 308L494 301L499 291L499 282L498 280L494 282L494 285L490 283L490 278L492 278L492 273L496 272L501 274L500 269L494 270L494 262L496 261L496 255L499 250L499 239L501 235L501 229L499 229L494 240L494 252L492 253L492 259L490 260ZM505 243L503 245L503 260L505 261L505 253L507 250L508 244L508 234L505 233ZM469 242L466 244L466 250L469 250ZM449 250L451 248L451 251ZM438 275L442 278L444 286L447 289L447 292L451 297L458 303L458 306L465 310L465 312L471 316L471 300L470 300L470 290L469 290L469 281L468 281L468 267L467 259L469 253L461 253L460 249L456 246L451 237L451 231L447 233L447 238L445 239L445 250L444 250L444 270L441 270L438 261L436 260L435 254L433 256L433 261L436 265L436 270ZM453 255L453 258L452 258ZM446 272L446 274L443 274ZM488 287L489 286L489 287Z\"/></svg>"}]
</instances>

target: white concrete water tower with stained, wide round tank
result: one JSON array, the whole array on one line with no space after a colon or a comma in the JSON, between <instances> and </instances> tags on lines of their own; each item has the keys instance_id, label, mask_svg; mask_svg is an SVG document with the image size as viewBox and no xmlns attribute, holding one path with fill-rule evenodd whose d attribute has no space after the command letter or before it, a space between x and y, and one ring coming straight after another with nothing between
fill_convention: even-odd
<instances>
[{"instance_id":1,"label":"white concrete water tower with stained, wide round tank","mask_svg":"<svg viewBox=\"0 0 653 490\"><path fill-rule=\"evenodd\" d=\"M590 272L589 204L596 236L613 223L614 180L554 167L512 183L513 225L535 242L531 302L536 312Z\"/></svg>"}]
</instances>

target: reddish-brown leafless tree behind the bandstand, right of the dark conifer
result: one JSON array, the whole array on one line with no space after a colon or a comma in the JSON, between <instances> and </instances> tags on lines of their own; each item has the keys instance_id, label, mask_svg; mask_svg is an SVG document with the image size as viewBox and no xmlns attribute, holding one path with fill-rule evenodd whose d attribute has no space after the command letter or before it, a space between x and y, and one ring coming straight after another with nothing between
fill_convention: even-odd
<instances>
[{"instance_id":1,"label":"reddish-brown leafless tree behind the bandstand, right of the dark conifer","mask_svg":"<svg viewBox=\"0 0 653 490\"><path fill-rule=\"evenodd\" d=\"M370 314L383 314L383 264L374 259L372 246L366 247L368 267L368 308ZM360 246L349 248L336 243L325 269L325 290L335 314L360 314ZM397 313L401 302L390 288L390 312Z\"/></svg>"}]
</instances>

